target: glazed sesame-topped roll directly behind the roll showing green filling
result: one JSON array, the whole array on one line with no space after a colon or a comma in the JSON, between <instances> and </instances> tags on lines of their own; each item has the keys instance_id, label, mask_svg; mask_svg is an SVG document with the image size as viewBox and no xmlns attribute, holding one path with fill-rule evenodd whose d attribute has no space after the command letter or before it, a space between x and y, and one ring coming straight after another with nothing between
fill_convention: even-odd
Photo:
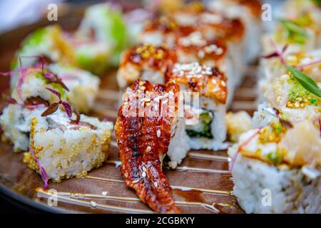
<instances>
[{"instance_id":1,"label":"glazed sesame-topped roll directly behind the roll showing green filling","mask_svg":"<svg viewBox=\"0 0 321 228\"><path fill-rule=\"evenodd\" d=\"M227 106L230 105L240 76L235 73L233 61L228 54L228 47L223 40L207 41L200 31L195 31L188 36L178 38L175 52L178 63L199 62L206 66L220 68L228 80L228 100L226 103Z\"/></svg>"}]
</instances>

